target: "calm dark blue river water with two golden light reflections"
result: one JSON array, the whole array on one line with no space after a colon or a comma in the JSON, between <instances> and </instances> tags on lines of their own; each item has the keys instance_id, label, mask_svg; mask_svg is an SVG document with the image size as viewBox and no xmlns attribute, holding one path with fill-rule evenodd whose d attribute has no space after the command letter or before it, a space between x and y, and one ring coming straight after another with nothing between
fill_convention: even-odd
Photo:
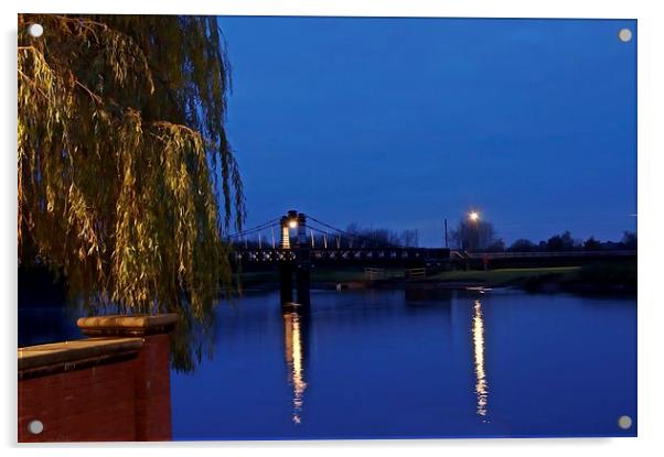
<instances>
[{"instance_id":1,"label":"calm dark blue river water with two golden light reflections","mask_svg":"<svg viewBox=\"0 0 664 457\"><path fill-rule=\"evenodd\" d=\"M636 434L635 300L248 293L218 317L213 359L172 373L175 439Z\"/></svg>"}]
</instances>

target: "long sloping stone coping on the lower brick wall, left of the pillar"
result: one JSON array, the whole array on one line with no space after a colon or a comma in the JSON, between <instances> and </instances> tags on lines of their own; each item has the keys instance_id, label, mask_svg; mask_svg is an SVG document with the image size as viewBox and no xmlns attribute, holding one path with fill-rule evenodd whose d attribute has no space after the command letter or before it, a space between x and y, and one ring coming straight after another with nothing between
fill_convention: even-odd
<instances>
[{"instance_id":1,"label":"long sloping stone coping on the lower brick wall, left of the pillar","mask_svg":"<svg viewBox=\"0 0 664 457\"><path fill-rule=\"evenodd\" d=\"M143 346L141 338L85 338L19 348L19 377L28 371L68 371L82 364L130 357Z\"/></svg>"}]
</instances>

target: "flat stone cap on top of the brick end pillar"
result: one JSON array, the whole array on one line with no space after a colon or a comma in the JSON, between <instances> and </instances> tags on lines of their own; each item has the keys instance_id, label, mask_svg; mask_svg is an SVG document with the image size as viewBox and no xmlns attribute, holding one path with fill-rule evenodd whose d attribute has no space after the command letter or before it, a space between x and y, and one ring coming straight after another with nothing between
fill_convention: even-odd
<instances>
[{"instance_id":1,"label":"flat stone cap on top of the brick end pillar","mask_svg":"<svg viewBox=\"0 0 664 457\"><path fill-rule=\"evenodd\" d=\"M151 335L169 333L178 323L178 315L170 314L135 314L81 317L76 325L85 335Z\"/></svg>"}]
</instances>

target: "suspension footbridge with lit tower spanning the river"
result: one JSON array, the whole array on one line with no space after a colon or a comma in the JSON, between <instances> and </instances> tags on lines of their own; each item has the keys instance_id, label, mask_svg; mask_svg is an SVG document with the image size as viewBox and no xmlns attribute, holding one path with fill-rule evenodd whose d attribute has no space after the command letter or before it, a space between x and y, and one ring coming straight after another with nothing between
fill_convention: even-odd
<instances>
[{"instance_id":1,"label":"suspension footbridge with lit tower spanning the river","mask_svg":"<svg viewBox=\"0 0 664 457\"><path fill-rule=\"evenodd\" d=\"M233 246L232 261L236 265L278 265L281 302L293 302L294 280L297 303L304 306L309 304L312 264L468 270L580 265L607 259L636 258L636 251L465 252L400 246L341 230L296 210L232 235L228 241Z\"/></svg>"}]
</instances>

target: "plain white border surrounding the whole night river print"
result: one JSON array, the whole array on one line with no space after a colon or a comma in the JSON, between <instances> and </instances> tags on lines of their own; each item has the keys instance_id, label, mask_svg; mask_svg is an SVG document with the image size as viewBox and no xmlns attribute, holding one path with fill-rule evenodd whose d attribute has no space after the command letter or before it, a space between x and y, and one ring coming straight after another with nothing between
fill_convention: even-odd
<instances>
[{"instance_id":1,"label":"plain white border surrounding the whole night river print","mask_svg":"<svg viewBox=\"0 0 664 457\"><path fill-rule=\"evenodd\" d=\"M404 453L437 455L441 453L483 455L559 456L570 451L601 453L603 456L625 454L646 455L664 448L664 411L662 360L664 341L661 330L664 305L657 300L658 270L661 270L664 225L662 199L664 179L662 154L664 142L664 20L657 1L638 0L160 0L149 4L136 0L23 0L15 8L3 3L2 89L0 110L2 129L3 195L0 215L2 229L2 291L0 305L4 312L2 340L4 342L0 377L4 401L0 414L1 443L15 442L15 29L17 12L104 12L158 14L229 14L229 15L374 15L374 17L483 17L483 18L603 18L638 19L639 43L639 438L613 439L478 439L478 440L373 440L373 442L248 442L192 443L153 445L55 446L21 449L22 453L49 455L111 456L125 448L140 447L140 451L180 456L185 449L218 455L233 453L258 455L264 453L288 455L338 455L340 453L378 451L387 456ZM140 4L140 7L139 7ZM660 280L661 282L661 280ZM232 413L232 412L228 412ZM120 447L121 449L119 449ZM9 449L15 451L15 446Z\"/></svg>"}]
</instances>

